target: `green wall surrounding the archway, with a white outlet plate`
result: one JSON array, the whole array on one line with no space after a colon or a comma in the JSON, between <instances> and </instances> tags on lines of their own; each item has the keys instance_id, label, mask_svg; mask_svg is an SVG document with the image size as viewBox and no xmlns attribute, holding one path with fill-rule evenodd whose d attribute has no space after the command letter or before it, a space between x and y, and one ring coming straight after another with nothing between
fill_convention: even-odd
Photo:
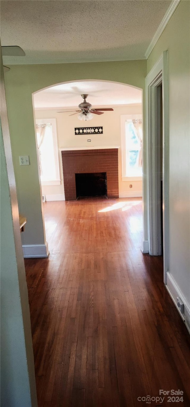
<instances>
[{"instance_id":1,"label":"green wall surrounding the archway, with a white outlet plate","mask_svg":"<svg viewBox=\"0 0 190 407\"><path fill-rule=\"evenodd\" d=\"M27 217L22 236L24 245L44 243L32 93L81 79L121 82L144 90L146 64L140 60L11 66L5 77L5 88L19 210ZM30 166L20 166L19 155L29 155Z\"/></svg>"}]
</instances>

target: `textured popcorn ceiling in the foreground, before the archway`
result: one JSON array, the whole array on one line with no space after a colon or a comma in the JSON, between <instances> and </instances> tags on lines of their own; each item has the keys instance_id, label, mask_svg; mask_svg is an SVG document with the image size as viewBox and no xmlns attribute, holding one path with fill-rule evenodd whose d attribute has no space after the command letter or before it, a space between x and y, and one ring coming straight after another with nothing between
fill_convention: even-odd
<instances>
[{"instance_id":1,"label":"textured popcorn ceiling in the foreground, before the archway","mask_svg":"<svg viewBox=\"0 0 190 407\"><path fill-rule=\"evenodd\" d=\"M4 63L145 59L170 0L1 0Z\"/></svg>"}]
</instances>

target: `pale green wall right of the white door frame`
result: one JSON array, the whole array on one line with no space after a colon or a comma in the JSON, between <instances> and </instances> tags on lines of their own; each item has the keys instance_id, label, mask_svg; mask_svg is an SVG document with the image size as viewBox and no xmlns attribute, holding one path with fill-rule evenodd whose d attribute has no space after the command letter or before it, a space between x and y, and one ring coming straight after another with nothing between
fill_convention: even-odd
<instances>
[{"instance_id":1,"label":"pale green wall right of the white door frame","mask_svg":"<svg viewBox=\"0 0 190 407\"><path fill-rule=\"evenodd\" d=\"M182 0L148 58L168 50L169 271L190 304L190 2Z\"/></svg>"}]
</instances>

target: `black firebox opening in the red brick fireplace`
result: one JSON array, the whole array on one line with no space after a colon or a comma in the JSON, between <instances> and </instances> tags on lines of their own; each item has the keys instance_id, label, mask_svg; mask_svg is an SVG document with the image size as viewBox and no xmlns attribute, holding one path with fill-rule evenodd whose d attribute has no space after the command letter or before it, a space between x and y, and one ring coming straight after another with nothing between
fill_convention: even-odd
<instances>
[{"instance_id":1,"label":"black firebox opening in the red brick fireplace","mask_svg":"<svg viewBox=\"0 0 190 407\"><path fill-rule=\"evenodd\" d=\"M107 197L106 173L75 174L76 195L80 197Z\"/></svg>"}]
</instances>

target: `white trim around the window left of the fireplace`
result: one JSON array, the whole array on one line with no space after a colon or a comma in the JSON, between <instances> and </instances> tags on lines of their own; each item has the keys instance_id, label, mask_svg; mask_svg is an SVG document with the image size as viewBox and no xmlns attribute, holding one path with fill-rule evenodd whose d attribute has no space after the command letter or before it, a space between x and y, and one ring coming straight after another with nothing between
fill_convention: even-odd
<instances>
[{"instance_id":1,"label":"white trim around the window left of the fireplace","mask_svg":"<svg viewBox=\"0 0 190 407\"><path fill-rule=\"evenodd\" d=\"M44 181L41 180L40 177L40 182L42 186L45 185L60 185L61 184L61 179L60 179L60 160L59 160L59 154L58 154L58 143L57 143L57 126L56 126L56 119L51 119L51 118L46 118L46 119L35 119L35 123L37 125L39 124L50 124L52 127L52 136L53 136L53 153L54 153L54 160L55 160L55 179L46 179ZM38 143L37 143L37 151L38 151Z\"/></svg>"}]
</instances>

